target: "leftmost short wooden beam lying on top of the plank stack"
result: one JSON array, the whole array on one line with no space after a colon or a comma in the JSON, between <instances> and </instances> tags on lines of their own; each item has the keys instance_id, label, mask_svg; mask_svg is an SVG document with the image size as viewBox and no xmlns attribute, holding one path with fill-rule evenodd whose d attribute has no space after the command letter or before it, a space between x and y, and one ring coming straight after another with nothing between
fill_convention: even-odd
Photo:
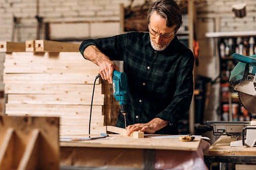
<instances>
[{"instance_id":1,"label":"leftmost short wooden beam lying on top of the plank stack","mask_svg":"<svg viewBox=\"0 0 256 170\"><path fill-rule=\"evenodd\" d=\"M25 52L25 43L0 41L0 52Z\"/></svg>"}]
</instances>

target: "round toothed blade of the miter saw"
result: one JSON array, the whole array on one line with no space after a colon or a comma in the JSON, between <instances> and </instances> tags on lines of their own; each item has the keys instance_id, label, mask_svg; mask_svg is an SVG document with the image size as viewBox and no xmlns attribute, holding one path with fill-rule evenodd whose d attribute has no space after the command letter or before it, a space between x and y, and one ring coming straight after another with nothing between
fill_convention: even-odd
<instances>
[{"instance_id":1,"label":"round toothed blade of the miter saw","mask_svg":"<svg viewBox=\"0 0 256 170\"><path fill-rule=\"evenodd\" d=\"M251 113L256 113L256 97L250 94L238 92L241 105Z\"/></svg>"}]
</instances>

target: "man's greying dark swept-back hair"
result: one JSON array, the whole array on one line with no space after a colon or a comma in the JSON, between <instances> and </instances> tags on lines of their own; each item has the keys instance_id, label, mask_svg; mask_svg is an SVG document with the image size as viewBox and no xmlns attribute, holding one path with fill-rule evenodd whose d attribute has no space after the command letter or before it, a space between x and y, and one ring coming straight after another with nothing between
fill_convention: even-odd
<instances>
[{"instance_id":1,"label":"man's greying dark swept-back hair","mask_svg":"<svg viewBox=\"0 0 256 170\"><path fill-rule=\"evenodd\" d=\"M151 15L154 12L166 19L166 26L177 26L175 33L182 25L182 14L178 4L174 0L158 0L147 11L147 23L150 23Z\"/></svg>"}]
</instances>

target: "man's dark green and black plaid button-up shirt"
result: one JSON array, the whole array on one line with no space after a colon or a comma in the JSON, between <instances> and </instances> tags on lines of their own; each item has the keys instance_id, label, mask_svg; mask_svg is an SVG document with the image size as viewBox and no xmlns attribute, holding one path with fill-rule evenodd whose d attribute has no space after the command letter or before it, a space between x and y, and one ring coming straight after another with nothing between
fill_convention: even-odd
<instances>
[{"instance_id":1,"label":"man's dark green and black plaid button-up shirt","mask_svg":"<svg viewBox=\"0 0 256 170\"><path fill-rule=\"evenodd\" d=\"M139 32L84 40L79 47L82 55L89 45L96 45L111 60L123 60L128 83L127 126L159 117L170 125L156 134L177 134L177 122L188 111L193 96L193 53L176 36L164 51L155 51L150 35ZM121 113L116 126L125 127Z\"/></svg>"}]
</instances>

